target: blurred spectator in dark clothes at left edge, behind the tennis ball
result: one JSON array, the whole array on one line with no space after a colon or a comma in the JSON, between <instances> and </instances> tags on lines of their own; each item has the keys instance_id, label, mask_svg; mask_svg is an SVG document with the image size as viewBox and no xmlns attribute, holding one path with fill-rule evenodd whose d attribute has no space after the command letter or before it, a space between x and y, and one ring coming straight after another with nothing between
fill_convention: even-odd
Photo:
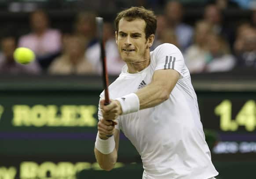
<instances>
[{"instance_id":1,"label":"blurred spectator in dark clothes at left edge, behind the tennis ball","mask_svg":"<svg viewBox=\"0 0 256 179\"><path fill-rule=\"evenodd\" d=\"M15 37L4 37L1 40L1 49L0 52L0 73L7 74L39 74L40 68L37 65L37 62L31 62L27 65L22 65L16 63L13 58L13 53L16 49L16 40Z\"/></svg>"}]
</instances>

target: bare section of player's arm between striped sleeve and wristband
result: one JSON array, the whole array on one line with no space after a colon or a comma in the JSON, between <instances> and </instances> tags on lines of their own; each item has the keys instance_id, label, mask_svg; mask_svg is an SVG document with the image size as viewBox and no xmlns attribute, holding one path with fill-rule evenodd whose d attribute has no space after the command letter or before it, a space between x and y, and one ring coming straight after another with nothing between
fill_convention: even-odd
<instances>
[{"instance_id":1,"label":"bare section of player's arm between striped sleeve and wristband","mask_svg":"<svg viewBox=\"0 0 256 179\"><path fill-rule=\"evenodd\" d=\"M154 107L169 99L178 80L179 73L174 69L156 70L151 83L135 93L139 98L139 109Z\"/></svg>"}]
</instances>

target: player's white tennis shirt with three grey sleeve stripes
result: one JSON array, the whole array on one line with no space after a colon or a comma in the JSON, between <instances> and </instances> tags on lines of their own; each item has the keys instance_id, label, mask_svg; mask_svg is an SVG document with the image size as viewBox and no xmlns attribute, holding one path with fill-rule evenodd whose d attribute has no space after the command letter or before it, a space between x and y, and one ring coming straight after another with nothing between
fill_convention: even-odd
<instances>
[{"instance_id":1,"label":"player's white tennis shirt with three grey sleeve stripes","mask_svg":"<svg viewBox=\"0 0 256 179\"><path fill-rule=\"evenodd\" d=\"M125 65L109 86L111 99L150 84L157 69L175 69L180 74L168 100L117 119L116 128L124 132L141 156L144 178L209 179L218 175L205 142L190 73L179 49L172 44L159 45L150 52L146 69L133 74L127 69ZM104 92L100 98L104 98Z\"/></svg>"}]
</instances>

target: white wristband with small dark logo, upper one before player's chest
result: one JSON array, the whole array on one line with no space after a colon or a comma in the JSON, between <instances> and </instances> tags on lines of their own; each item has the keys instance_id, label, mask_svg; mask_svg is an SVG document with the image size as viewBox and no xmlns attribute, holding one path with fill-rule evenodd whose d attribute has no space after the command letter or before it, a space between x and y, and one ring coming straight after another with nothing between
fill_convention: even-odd
<instances>
[{"instance_id":1,"label":"white wristband with small dark logo, upper one before player's chest","mask_svg":"<svg viewBox=\"0 0 256 179\"><path fill-rule=\"evenodd\" d=\"M117 98L122 108L122 114L134 113L139 110L139 98L135 93Z\"/></svg>"}]
</instances>

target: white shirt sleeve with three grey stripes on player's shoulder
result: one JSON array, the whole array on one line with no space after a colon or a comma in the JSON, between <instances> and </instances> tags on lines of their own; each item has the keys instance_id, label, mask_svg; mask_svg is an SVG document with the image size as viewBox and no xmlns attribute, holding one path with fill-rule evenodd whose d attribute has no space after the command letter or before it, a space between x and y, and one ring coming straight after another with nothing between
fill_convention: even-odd
<instances>
[{"instance_id":1,"label":"white shirt sleeve with three grey stripes on player's shoulder","mask_svg":"<svg viewBox=\"0 0 256 179\"><path fill-rule=\"evenodd\" d=\"M186 76L186 66L183 55L178 47L173 44L161 44L155 49L154 58L157 69L175 69L180 74L180 78Z\"/></svg>"}]
</instances>

